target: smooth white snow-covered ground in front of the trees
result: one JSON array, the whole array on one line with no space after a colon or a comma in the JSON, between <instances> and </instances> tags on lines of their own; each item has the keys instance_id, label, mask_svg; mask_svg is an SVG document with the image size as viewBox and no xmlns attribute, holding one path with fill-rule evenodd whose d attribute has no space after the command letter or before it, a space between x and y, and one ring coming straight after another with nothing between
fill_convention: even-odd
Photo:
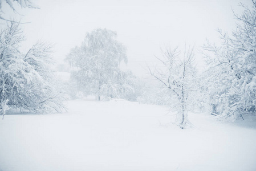
<instances>
[{"instance_id":1,"label":"smooth white snow-covered ground in front of the trees","mask_svg":"<svg viewBox=\"0 0 256 171\"><path fill-rule=\"evenodd\" d=\"M170 124L168 107L123 100L67 107L64 114L6 115L0 170L256 170L255 118L228 124L190 113L195 128L181 130Z\"/></svg>"}]
</instances>

